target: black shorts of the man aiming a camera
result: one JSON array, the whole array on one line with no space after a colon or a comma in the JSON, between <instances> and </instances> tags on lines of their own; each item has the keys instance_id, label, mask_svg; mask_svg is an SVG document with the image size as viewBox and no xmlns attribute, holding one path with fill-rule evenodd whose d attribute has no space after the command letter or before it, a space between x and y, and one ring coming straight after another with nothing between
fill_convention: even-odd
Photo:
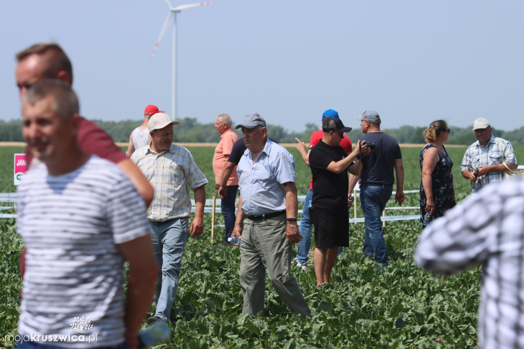
<instances>
[{"instance_id":1,"label":"black shorts of the man aiming a camera","mask_svg":"<svg viewBox=\"0 0 524 349\"><path fill-rule=\"evenodd\" d=\"M309 217L315 227L315 245L319 248L350 246L350 215L309 208Z\"/></svg>"}]
</instances>

